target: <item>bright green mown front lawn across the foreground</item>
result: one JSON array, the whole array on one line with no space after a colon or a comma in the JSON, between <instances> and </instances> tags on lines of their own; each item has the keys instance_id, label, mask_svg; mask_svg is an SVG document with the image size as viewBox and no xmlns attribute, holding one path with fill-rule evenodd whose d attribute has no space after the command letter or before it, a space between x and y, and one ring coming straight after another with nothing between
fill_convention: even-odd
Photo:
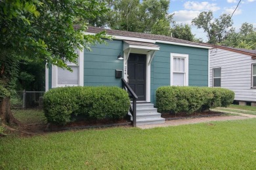
<instances>
[{"instance_id":1,"label":"bright green mown front lawn across the foreground","mask_svg":"<svg viewBox=\"0 0 256 170\"><path fill-rule=\"evenodd\" d=\"M255 169L256 119L2 137L0 169Z\"/></svg>"}]
</instances>

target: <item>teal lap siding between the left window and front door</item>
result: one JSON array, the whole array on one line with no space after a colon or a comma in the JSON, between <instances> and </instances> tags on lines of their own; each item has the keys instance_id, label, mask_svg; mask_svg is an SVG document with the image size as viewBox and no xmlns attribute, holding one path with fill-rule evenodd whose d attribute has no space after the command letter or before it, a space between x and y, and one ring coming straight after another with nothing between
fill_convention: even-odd
<instances>
[{"instance_id":1,"label":"teal lap siding between the left window and front door","mask_svg":"<svg viewBox=\"0 0 256 170\"><path fill-rule=\"evenodd\" d=\"M119 86L116 69L123 70L123 60L117 59L123 51L122 41L107 41L107 44L91 46L84 52L84 86Z\"/></svg>"}]
</instances>

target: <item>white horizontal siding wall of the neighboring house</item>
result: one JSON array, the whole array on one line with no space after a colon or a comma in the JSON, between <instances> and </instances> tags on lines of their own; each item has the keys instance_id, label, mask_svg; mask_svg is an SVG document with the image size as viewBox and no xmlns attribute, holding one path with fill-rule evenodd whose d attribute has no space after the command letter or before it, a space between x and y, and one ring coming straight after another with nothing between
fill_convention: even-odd
<instances>
[{"instance_id":1,"label":"white horizontal siding wall of the neighboring house","mask_svg":"<svg viewBox=\"0 0 256 170\"><path fill-rule=\"evenodd\" d=\"M251 64L256 63L251 56L217 49L210 59L210 86L212 69L221 67L221 87L235 92L235 100L256 101L256 90L251 88Z\"/></svg>"}]
</instances>

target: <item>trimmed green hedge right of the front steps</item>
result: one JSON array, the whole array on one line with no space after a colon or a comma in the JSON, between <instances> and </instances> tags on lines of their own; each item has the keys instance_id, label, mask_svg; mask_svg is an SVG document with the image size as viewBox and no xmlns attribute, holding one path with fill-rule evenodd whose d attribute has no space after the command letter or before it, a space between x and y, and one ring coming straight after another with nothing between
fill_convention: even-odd
<instances>
[{"instance_id":1,"label":"trimmed green hedge right of the front steps","mask_svg":"<svg viewBox=\"0 0 256 170\"><path fill-rule=\"evenodd\" d=\"M156 90L159 112L202 112L215 107L227 107L234 100L234 92L224 88L162 86Z\"/></svg>"}]
</instances>

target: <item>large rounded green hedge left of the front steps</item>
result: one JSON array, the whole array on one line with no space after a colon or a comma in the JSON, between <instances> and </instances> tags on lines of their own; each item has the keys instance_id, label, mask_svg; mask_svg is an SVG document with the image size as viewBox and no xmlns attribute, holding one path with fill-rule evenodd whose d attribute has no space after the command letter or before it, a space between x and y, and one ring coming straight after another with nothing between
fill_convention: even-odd
<instances>
[{"instance_id":1,"label":"large rounded green hedge left of the front steps","mask_svg":"<svg viewBox=\"0 0 256 170\"><path fill-rule=\"evenodd\" d=\"M83 116L101 120L123 118L130 106L125 90L117 87L64 87L45 93L43 109L47 122L67 124Z\"/></svg>"}]
</instances>

